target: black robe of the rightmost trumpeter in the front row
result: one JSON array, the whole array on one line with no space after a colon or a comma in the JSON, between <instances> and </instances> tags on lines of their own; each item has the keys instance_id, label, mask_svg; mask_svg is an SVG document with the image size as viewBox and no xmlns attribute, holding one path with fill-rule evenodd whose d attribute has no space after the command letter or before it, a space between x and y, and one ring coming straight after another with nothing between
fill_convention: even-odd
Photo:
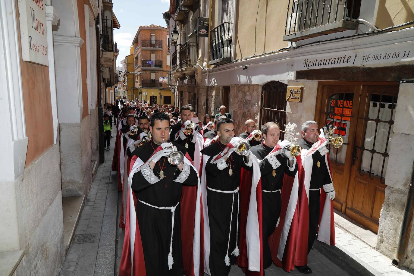
<instances>
[{"instance_id":1,"label":"black robe of the rightmost trumpeter in the front row","mask_svg":"<svg viewBox=\"0 0 414 276\"><path fill-rule=\"evenodd\" d=\"M302 139L298 142L298 145L303 149L310 149L312 144ZM319 151L315 151L312 154L313 165L312 174L310 176L309 186L309 234L308 234L308 253L312 249L313 242L316 238L316 232L319 226L320 215L320 191L312 191L314 189L320 189L325 184L332 183L329 168L326 166L325 155L321 156ZM319 166L318 166L319 164ZM311 190L312 189L312 190Z\"/></svg>"}]
</instances>

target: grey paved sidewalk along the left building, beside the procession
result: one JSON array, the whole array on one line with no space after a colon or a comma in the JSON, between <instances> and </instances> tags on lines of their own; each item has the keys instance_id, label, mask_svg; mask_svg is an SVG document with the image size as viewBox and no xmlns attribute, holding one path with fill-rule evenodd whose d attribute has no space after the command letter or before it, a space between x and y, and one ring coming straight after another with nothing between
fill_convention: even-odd
<instances>
[{"instance_id":1,"label":"grey paved sidewalk along the left building, beside the procession","mask_svg":"<svg viewBox=\"0 0 414 276\"><path fill-rule=\"evenodd\" d=\"M105 161L99 165L92 182L60 276L114 275L118 182L111 182L116 139L115 127L112 128L114 137L111 138L111 150L105 151Z\"/></svg>"}]
</instances>

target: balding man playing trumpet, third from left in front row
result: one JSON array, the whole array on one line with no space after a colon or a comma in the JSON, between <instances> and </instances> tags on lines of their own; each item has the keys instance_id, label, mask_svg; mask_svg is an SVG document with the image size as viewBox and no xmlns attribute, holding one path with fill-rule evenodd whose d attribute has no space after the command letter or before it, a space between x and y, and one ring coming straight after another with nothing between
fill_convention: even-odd
<instances>
[{"instance_id":1,"label":"balding man playing trumpet, third from left in front row","mask_svg":"<svg viewBox=\"0 0 414 276\"><path fill-rule=\"evenodd\" d=\"M263 141L250 150L258 158L262 185L262 252L263 269L272 265L268 238L279 225L282 206L281 189L284 175L295 176L298 171L296 159L291 156L289 141L279 142L279 125L266 122L261 128Z\"/></svg>"}]
</instances>

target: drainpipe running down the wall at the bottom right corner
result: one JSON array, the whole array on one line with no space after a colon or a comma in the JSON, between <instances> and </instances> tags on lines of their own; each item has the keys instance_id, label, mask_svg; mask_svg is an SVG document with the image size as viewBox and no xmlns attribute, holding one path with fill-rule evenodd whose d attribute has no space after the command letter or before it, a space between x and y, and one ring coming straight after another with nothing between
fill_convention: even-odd
<instances>
[{"instance_id":1,"label":"drainpipe running down the wall at the bottom right corner","mask_svg":"<svg viewBox=\"0 0 414 276\"><path fill-rule=\"evenodd\" d=\"M414 162L411 171L411 181L408 184L407 202L404 209L404 218L402 220L400 242L398 243L397 257L392 260L394 266L400 267L406 259L408 241L411 234L411 227L414 215Z\"/></svg>"}]
</instances>

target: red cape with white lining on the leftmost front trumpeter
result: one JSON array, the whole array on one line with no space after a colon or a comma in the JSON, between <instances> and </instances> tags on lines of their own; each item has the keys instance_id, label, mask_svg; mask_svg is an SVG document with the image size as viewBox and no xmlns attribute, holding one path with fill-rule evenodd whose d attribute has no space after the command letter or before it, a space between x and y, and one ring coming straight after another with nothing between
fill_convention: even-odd
<instances>
[{"instance_id":1,"label":"red cape with white lining on the leftmost front trumpeter","mask_svg":"<svg viewBox=\"0 0 414 276\"><path fill-rule=\"evenodd\" d=\"M159 146L156 151L159 151ZM155 151L155 152L156 152ZM154 153L155 153L154 152ZM186 163L191 163L188 154L185 154ZM136 170L144 164L137 156L133 156L130 165L130 171ZM191 166L192 163L191 163ZM125 218L125 238L122 250L122 256L119 267L120 276L146 276L144 253L142 249L140 228L136 217L135 193L131 190L131 180L133 173L129 176L128 181L128 200ZM183 186L183 192L180 199L181 205L181 246L183 250L184 274L188 276L203 275L204 268L200 263L202 258L202 246L200 240L202 236L202 217L200 217L201 194L200 182L198 186ZM133 213L132 213L133 212ZM195 227L197 226L197 227ZM134 244L132 248L132 243ZM131 274L131 272L133 273Z\"/></svg>"}]
</instances>

